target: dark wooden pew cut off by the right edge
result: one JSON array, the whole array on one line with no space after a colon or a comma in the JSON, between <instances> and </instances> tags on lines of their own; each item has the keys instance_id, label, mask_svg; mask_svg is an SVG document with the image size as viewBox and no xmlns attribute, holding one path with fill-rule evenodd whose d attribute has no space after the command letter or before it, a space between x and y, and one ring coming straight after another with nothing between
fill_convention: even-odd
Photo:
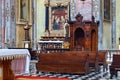
<instances>
[{"instance_id":1,"label":"dark wooden pew cut off by the right edge","mask_svg":"<svg viewBox=\"0 0 120 80\"><path fill-rule=\"evenodd\" d=\"M110 78L112 78L113 75L117 77L117 71L120 71L120 54L113 55L113 61L110 66Z\"/></svg>"}]
</instances>

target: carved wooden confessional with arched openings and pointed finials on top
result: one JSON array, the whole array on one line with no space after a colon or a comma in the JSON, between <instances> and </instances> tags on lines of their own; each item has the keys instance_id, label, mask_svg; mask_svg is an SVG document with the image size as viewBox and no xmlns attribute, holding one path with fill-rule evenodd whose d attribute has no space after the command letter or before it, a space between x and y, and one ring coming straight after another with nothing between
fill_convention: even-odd
<instances>
[{"instance_id":1,"label":"carved wooden confessional with arched openings and pointed finials on top","mask_svg":"<svg viewBox=\"0 0 120 80\"><path fill-rule=\"evenodd\" d=\"M97 51L98 50L98 25L92 21L82 22L83 17L78 14L76 22L70 23L70 48L71 50Z\"/></svg>"}]
</instances>

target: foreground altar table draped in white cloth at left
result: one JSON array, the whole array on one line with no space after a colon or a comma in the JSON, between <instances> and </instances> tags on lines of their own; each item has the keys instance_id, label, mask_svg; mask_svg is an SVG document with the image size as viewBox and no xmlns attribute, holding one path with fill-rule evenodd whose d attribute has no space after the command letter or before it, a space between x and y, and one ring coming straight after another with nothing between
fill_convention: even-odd
<instances>
[{"instance_id":1,"label":"foreground altar table draped in white cloth at left","mask_svg":"<svg viewBox=\"0 0 120 80\"><path fill-rule=\"evenodd\" d=\"M30 57L27 49L0 49L0 80L29 73Z\"/></svg>"}]
</instances>

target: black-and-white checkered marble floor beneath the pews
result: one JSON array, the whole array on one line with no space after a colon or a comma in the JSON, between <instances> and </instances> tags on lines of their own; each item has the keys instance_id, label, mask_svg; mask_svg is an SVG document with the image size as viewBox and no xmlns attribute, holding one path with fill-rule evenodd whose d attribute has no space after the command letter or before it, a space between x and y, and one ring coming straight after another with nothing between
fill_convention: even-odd
<instances>
[{"instance_id":1,"label":"black-and-white checkered marble floor beneath the pews","mask_svg":"<svg viewBox=\"0 0 120 80\"><path fill-rule=\"evenodd\" d=\"M70 80L120 80L120 75L118 75L118 77L114 76L112 79L110 79L110 74L108 71L97 72L97 73L91 72L87 75L38 72L36 74L33 73L23 74L23 76L47 76L47 77L69 78Z\"/></svg>"}]
</instances>

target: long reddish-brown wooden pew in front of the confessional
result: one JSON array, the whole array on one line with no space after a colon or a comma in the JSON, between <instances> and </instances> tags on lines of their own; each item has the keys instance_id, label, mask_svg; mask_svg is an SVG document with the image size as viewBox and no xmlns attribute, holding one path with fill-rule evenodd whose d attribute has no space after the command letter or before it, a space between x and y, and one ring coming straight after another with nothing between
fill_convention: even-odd
<instances>
[{"instance_id":1,"label":"long reddish-brown wooden pew in front of the confessional","mask_svg":"<svg viewBox=\"0 0 120 80\"><path fill-rule=\"evenodd\" d=\"M39 55L36 68L41 72L87 74L89 73L88 63L86 52L45 53Z\"/></svg>"}]
</instances>

